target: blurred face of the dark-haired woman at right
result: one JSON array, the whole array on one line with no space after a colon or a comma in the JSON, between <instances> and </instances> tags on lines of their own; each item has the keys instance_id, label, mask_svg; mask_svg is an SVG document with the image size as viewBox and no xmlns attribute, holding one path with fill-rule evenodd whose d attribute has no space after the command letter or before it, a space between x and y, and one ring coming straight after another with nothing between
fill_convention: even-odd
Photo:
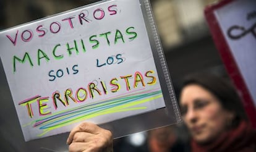
<instances>
[{"instance_id":1,"label":"blurred face of the dark-haired woman at right","mask_svg":"<svg viewBox=\"0 0 256 152\"><path fill-rule=\"evenodd\" d=\"M224 132L233 113L223 109L220 101L200 85L187 85L181 91L181 111L192 137L198 143L215 140Z\"/></svg>"}]
</instances>

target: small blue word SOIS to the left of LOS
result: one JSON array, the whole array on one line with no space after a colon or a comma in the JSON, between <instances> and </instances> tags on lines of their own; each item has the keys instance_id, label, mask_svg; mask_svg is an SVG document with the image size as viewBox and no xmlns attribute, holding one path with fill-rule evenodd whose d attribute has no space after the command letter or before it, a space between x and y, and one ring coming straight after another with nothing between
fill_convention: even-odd
<instances>
[{"instance_id":1,"label":"small blue word SOIS to the left of LOS","mask_svg":"<svg viewBox=\"0 0 256 152\"><path fill-rule=\"evenodd\" d=\"M79 72L79 70L77 69L77 67L78 67L77 64L75 64L75 65L72 66L72 71L71 71L72 73L71 73L71 74L77 74L77 73ZM64 72L64 71L65 71L65 72ZM49 77L51 77L51 78L49 79L49 81L50 81L50 82L54 81L56 77L61 78L62 76L64 76L65 73L67 73L68 75L70 74L68 67L66 67L65 70L59 69L59 70L57 70L56 72L55 72L54 70L50 70L48 75L49 75Z\"/></svg>"}]
</instances>

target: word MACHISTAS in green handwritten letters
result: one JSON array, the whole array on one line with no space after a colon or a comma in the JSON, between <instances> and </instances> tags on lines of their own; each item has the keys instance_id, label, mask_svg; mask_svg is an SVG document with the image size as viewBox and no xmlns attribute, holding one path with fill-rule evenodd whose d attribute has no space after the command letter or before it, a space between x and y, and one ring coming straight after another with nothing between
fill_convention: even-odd
<instances>
[{"instance_id":1,"label":"word MACHISTAS in green handwritten letters","mask_svg":"<svg viewBox=\"0 0 256 152\"><path fill-rule=\"evenodd\" d=\"M126 41L133 41L135 38L137 38L137 33L134 31L134 27L128 27L126 28L125 32L121 32L120 30L116 30L115 32L106 32L101 33L100 35L92 35L88 38L88 42L92 44L90 46L92 49L97 49L101 43L107 44L107 46L111 46L112 44L118 44L118 43L126 43ZM37 50L36 59L32 60L32 55L30 53L25 52L23 57L15 56L13 57L13 71L14 73L17 71L16 64L17 61L21 64L24 64L25 62L28 62L31 67L34 66L34 63L37 62L37 65L40 66L41 62L45 61L48 62L51 59L60 60L64 59L66 56L64 56L64 53L67 54L67 56L72 56L72 52L75 52L75 54L79 54L80 52L86 53L87 49L85 47L84 40L80 40L80 47L77 44L79 41L74 40L74 43L71 46L70 43L66 43L66 46L59 44L56 44L53 49L51 50L51 53L46 53L46 51L43 51L42 49ZM49 50L47 50L49 52ZM118 55L118 54L117 54ZM51 56L51 58L49 57ZM120 58L117 56L117 59ZM43 60L43 61L42 61Z\"/></svg>"}]
</instances>

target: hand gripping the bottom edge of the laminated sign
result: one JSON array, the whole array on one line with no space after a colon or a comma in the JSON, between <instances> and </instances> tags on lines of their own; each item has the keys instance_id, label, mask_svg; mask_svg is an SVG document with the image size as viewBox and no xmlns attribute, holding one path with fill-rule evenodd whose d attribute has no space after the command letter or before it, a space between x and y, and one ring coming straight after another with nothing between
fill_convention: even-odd
<instances>
[{"instance_id":1,"label":"hand gripping the bottom edge of the laminated sign","mask_svg":"<svg viewBox=\"0 0 256 152\"><path fill-rule=\"evenodd\" d=\"M109 130L84 122L75 127L67 138L70 152L113 151L113 138Z\"/></svg>"}]
</instances>

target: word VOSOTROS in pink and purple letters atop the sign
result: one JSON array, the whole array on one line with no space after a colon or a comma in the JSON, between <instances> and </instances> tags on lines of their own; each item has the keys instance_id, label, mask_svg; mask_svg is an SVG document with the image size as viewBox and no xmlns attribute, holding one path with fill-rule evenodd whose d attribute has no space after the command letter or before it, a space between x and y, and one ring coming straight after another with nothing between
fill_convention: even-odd
<instances>
[{"instance_id":1,"label":"word VOSOTROS in pink and purple letters atop the sign","mask_svg":"<svg viewBox=\"0 0 256 152\"><path fill-rule=\"evenodd\" d=\"M92 20L102 20L105 18L105 15L108 13L108 15L116 15L117 14L117 6L111 5L108 6L107 10L104 10L102 8L97 8L93 10L92 12L89 12L88 10L83 10L78 15L72 15L69 17L66 17L65 19L54 21L49 23L49 25L40 24L38 25L35 30L27 29L23 30L23 32L19 32L19 30L16 31L15 35L6 35L6 37L11 41L11 43L15 46L17 44L17 38L20 36L20 40L23 42L29 42L33 39L34 35L37 34L38 38L44 37L48 32L51 32L52 34L56 34L61 32L62 23L66 23L69 26L69 28L75 28L73 22L79 22L80 25L85 25L85 23L90 23ZM67 29L63 29L67 30Z\"/></svg>"}]
</instances>

